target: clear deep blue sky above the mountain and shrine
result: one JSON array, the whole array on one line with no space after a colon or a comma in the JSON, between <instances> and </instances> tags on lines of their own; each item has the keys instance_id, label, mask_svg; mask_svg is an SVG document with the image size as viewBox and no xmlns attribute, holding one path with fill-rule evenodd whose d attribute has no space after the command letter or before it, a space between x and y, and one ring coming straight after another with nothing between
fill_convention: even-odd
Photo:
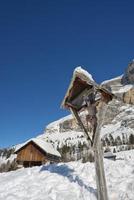
<instances>
[{"instance_id":1,"label":"clear deep blue sky above the mountain and shrine","mask_svg":"<svg viewBox=\"0 0 134 200\"><path fill-rule=\"evenodd\" d=\"M21 143L67 113L72 71L97 82L134 57L134 1L0 2L0 147Z\"/></svg>"}]
</instances>

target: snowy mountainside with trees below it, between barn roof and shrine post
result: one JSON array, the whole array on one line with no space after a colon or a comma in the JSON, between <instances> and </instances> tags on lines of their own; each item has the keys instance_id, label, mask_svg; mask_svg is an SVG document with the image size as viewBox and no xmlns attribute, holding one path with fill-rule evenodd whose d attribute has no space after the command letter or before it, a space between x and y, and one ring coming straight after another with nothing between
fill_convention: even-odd
<instances>
[{"instance_id":1,"label":"snowy mountainside with trees below it, between barn roof and shrine post","mask_svg":"<svg viewBox=\"0 0 134 200\"><path fill-rule=\"evenodd\" d=\"M72 115L49 124L44 133L38 137L52 143L60 152L63 161L81 158L87 161L89 157L92 157L84 133Z\"/></svg>"}]
</instances>

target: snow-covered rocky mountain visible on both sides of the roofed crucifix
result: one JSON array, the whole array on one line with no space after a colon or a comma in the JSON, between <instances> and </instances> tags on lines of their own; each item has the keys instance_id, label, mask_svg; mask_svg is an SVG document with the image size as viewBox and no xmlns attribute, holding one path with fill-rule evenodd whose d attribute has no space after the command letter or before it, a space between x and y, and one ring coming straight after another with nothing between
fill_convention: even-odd
<instances>
[{"instance_id":1,"label":"snow-covered rocky mountain visible on both sides of the roofed crucifix","mask_svg":"<svg viewBox=\"0 0 134 200\"><path fill-rule=\"evenodd\" d=\"M134 135L134 61L123 75L104 81L101 85L117 96L108 104L101 137L103 140L110 135L114 140L120 137L123 144L128 144L129 136ZM62 155L64 149L64 160L77 160L90 154L83 131L72 115L52 122L39 137L53 143ZM81 156L77 157L78 152Z\"/></svg>"}]
</instances>

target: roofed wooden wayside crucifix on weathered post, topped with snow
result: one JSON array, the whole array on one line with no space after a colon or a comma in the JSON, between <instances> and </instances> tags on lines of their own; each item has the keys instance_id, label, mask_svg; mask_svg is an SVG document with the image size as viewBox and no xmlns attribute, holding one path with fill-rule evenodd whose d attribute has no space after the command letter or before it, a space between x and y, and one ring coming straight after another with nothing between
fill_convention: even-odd
<instances>
[{"instance_id":1,"label":"roofed wooden wayside crucifix on weathered post, topped with snow","mask_svg":"<svg viewBox=\"0 0 134 200\"><path fill-rule=\"evenodd\" d=\"M100 130L107 104L112 98L113 94L110 91L96 84L88 73L79 67L74 71L62 103L63 108L72 112L83 129L89 147L94 151L98 200L108 200ZM85 113L86 124L81 119L82 112Z\"/></svg>"}]
</instances>

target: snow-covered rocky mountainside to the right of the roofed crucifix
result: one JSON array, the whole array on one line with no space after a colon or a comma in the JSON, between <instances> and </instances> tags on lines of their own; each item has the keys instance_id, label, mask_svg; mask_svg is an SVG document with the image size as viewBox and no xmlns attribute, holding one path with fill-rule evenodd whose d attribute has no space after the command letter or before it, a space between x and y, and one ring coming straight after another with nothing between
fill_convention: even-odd
<instances>
[{"instance_id":1,"label":"snow-covered rocky mountainside to the right of the roofed crucifix","mask_svg":"<svg viewBox=\"0 0 134 200\"><path fill-rule=\"evenodd\" d=\"M127 140L134 135L134 61L129 63L123 75L104 81L102 85L119 98L108 105L101 136L111 134L114 138L120 136Z\"/></svg>"}]
</instances>

